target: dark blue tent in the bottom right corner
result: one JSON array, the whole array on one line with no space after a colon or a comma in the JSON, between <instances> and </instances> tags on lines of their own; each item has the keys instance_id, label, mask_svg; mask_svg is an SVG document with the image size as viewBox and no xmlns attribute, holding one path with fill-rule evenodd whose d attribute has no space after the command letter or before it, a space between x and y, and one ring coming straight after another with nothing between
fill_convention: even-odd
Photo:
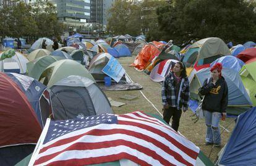
<instances>
[{"instance_id":1,"label":"dark blue tent in the bottom right corner","mask_svg":"<svg viewBox=\"0 0 256 166\"><path fill-rule=\"evenodd\" d=\"M239 115L219 165L256 165L256 107Z\"/></svg>"}]
</instances>

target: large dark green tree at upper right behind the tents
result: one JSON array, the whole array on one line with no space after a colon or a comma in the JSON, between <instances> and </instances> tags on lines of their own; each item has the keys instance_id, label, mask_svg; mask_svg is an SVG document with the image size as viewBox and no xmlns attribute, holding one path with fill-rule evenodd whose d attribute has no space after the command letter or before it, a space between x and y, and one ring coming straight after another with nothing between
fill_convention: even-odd
<instances>
[{"instance_id":1,"label":"large dark green tree at upper right behind the tents","mask_svg":"<svg viewBox=\"0 0 256 166\"><path fill-rule=\"evenodd\" d=\"M212 36L233 43L255 41L254 8L242 0L172 1L157 14L165 38L177 44Z\"/></svg>"}]
</instances>

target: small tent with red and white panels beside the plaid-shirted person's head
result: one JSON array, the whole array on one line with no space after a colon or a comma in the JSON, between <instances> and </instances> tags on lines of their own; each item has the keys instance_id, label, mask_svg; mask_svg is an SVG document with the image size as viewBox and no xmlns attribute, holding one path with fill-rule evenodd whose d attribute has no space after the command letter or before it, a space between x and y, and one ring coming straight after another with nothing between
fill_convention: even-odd
<instances>
[{"instance_id":1,"label":"small tent with red and white panels beside the plaid-shirted person's head","mask_svg":"<svg viewBox=\"0 0 256 166\"><path fill-rule=\"evenodd\" d=\"M164 81L166 75L168 75L169 70L173 69L174 65L178 60L166 59L157 64L150 73L150 79L155 82Z\"/></svg>"}]
</instances>

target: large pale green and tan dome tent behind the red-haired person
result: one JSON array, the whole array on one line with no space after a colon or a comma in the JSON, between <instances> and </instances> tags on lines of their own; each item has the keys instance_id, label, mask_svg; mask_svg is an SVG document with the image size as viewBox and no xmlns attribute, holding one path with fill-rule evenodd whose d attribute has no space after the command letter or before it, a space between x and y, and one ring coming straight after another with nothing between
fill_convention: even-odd
<instances>
[{"instance_id":1,"label":"large pale green and tan dome tent behind the red-haired person","mask_svg":"<svg viewBox=\"0 0 256 166\"><path fill-rule=\"evenodd\" d=\"M186 67L189 67L198 61L197 65L199 66L210 64L219 57L226 55L231 55L231 52L222 39L205 38L189 46L182 62Z\"/></svg>"}]
</instances>

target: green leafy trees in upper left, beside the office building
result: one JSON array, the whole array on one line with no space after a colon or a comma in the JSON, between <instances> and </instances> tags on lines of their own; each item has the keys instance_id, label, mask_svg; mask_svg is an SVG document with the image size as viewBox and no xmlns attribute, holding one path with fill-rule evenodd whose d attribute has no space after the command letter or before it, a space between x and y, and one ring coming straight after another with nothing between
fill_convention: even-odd
<instances>
[{"instance_id":1,"label":"green leafy trees in upper left, beside the office building","mask_svg":"<svg viewBox=\"0 0 256 166\"><path fill-rule=\"evenodd\" d=\"M58 22L53 4L37 0L32 5L17 1L15 6L0 10L1 36L59 36L63 25Z\"/></svg>"}]
</instances>

